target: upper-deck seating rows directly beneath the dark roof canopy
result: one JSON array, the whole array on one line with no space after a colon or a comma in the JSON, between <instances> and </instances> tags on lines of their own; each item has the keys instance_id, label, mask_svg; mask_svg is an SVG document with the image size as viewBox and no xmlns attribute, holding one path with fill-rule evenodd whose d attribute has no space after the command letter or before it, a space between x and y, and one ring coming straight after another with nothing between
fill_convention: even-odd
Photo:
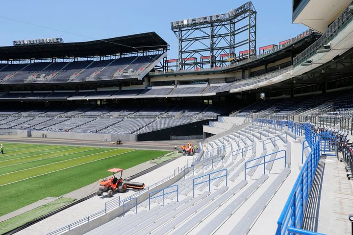
<instances>
[{"instance_id":1,"label":"upper-deck seating rows directly beneath the dark roof canopy","mask_svg":"<svg viewBox=\"0 0 353 235\"><path fill-rule=\"evenodd\" d=\"M60 83L138 77L161 54L113 60L1 64L0 83Z\"/></svg>"}]
</instances>

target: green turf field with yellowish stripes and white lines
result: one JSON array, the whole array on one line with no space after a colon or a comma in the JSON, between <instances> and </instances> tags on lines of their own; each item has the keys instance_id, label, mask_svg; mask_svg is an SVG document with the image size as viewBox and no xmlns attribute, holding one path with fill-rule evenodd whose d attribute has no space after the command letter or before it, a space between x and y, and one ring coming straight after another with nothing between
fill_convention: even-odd
<instances>
[{"instance_id":1,"label":"green turf field with yellowish stripes and white lines","mask_svg":"<svg viewBox=\"0 0 353 235\"><path fill-rule=\"evenodd\" d=\"M0 155L0 216L46 197L58 197L168 151L6 143Z\"/></svg>"}]
</instances>

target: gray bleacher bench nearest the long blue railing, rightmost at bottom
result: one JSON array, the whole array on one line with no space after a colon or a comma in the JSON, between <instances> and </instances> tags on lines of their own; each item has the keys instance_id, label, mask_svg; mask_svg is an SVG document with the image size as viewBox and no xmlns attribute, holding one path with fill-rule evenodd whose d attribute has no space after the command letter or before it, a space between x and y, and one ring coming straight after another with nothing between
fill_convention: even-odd
<instances>
[{"instance_id":1,"label":"gray bleacher bench nearest the long blue railing, rightmost at bottom","mask_svg":"<svg viewBox=\"0 0 353 235\"><path fill-rule=\"evenodd\" d=\"M249 211L243 216L238 224L232 229L229 234L244 235L248 234L252 224L260 216L266 205L270 202L272 197L277 192L278 188L282 185L284 180L291 172L290 168L284 168L277 176L274 182L266 189L266 191L257 199Z\"/></svg>"}]
</instances>

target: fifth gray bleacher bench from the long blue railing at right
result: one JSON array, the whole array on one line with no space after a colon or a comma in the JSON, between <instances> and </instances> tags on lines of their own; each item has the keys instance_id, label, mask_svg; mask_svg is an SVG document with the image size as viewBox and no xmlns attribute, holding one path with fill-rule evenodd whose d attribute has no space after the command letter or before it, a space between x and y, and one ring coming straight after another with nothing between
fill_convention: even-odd
<instances>
[{"instance_id":1,"label":"fifth gray bleacher bench from the long blue railing at right","mask_svg":"<svg viewBox=\"0 0 353 235\"><path fill-rule=\"evenodd\" d=\"M126 231L126 233L123 233L123 234L126 234L126 235L135 234L140 232L141 230L143 230L144 234L149 234L151 233L151 231L157 229L158 227L162 226L169 220L175 218L175 216L178 215L179 213L187 210L190 207L193 207L196 203L206 198L209 194L210 194L209 192L203 192L198 197L195 197L186 203L182 203L182 205L178 207L177 210L176 208L171 208L166 213L158 213L157 216L153 216L145 220L143 223L137 224L137 226L134 227L132 230ZM177 205L179 204L181 203L177 203ZM120 234L120 235L123 235L123 234Z\"/></svg>"}]
</instances>

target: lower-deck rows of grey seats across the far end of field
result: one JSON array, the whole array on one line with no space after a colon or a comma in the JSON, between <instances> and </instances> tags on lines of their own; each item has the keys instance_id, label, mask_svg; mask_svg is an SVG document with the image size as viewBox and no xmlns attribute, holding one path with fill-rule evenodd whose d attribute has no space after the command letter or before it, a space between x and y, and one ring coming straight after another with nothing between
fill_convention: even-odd
<instances>
[{"instance_id":1,"label":"lower-deck rows of grey seats across the far end of field","mask_svg":"<svg viewBox=\"0 0 353 235\"><path fill-rule=\"evenodd\" d=\"M142 134L227 114L227 106L128 106L0 111L0 129L105 134Z\"/></svg>"}]
</instances>

